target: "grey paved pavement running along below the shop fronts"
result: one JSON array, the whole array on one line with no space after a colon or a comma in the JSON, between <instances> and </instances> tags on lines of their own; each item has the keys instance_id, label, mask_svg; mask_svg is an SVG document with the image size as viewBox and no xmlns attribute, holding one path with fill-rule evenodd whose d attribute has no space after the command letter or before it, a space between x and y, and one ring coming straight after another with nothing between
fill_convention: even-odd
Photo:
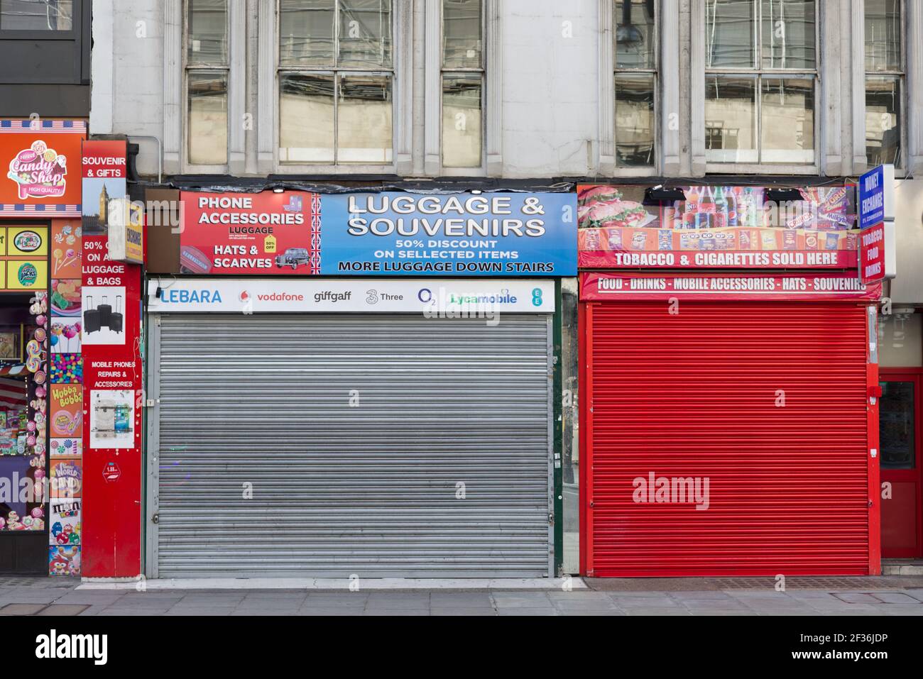
<instances>
[{"instance_id":1,"label":"grey paved pavement running along below the shop fronts","mask_svg":"<svg viewBox=\"0 0 923 679\"><path fill-rule=\"evenodd\" d=\"M923 615L914 578L856 587L582 590L85 590L56 578L0 579L0 615ZM869 585L869 580L874 580ZM849 578L837 578L837 582ZM592 588L597 582L589 581ZM663 582L663 581L661 581ZM693 589L698 587L699 589Z\"/></svg>"}]
</instances>

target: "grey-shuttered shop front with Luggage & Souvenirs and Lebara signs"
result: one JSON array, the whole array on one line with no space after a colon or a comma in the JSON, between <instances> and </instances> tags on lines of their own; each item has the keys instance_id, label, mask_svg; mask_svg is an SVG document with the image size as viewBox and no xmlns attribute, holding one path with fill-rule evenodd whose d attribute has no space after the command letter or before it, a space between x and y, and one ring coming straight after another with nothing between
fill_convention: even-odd
<instances>
[{"instance_id":1,"label":"grey-shuttered shop front with Luggage & Souvenirs and Lebara signs","mask_svg":"<svg viewBox=\"0 0 923 679\"><path fill-rule=\"evenodd\" d=\"M147 290L148 577L555 572L572 195L180 199Z\"/></svg>"}]
</instances>

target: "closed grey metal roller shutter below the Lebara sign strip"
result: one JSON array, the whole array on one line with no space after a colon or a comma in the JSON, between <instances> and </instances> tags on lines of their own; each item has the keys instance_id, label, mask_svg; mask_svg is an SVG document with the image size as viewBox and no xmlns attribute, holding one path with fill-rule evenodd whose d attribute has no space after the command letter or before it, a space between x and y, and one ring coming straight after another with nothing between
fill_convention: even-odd
<instances>
[{"instance_id":1,"label":"closed grey metal roller shutter below the Lebara sign strip","mask_svg":"<svg viewBox=\"0 0 923 679\"><path fill-rule=\"evenodd\" d=\"M547 576L549 328L161 316L153 575Z\"/></svg>"}]
</instances>

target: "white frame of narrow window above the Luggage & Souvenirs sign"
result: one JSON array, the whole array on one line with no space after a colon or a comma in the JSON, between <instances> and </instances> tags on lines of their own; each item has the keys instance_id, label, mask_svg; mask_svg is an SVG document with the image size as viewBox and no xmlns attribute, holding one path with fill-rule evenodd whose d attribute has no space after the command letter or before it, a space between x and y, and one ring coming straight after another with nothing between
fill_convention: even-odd
<instances>
[{"instance_id":1,"label":"white frame of narrow window above the Luggage & Souvenirs sign","mask_svg":"<svg viewBox=\"0 0 923 679\"><path fill-rule=\"evenodd\" d=\"M484 87L481 92L481 167L442 164L442 0L426 0L425 160L426 176L498 177L503 173L503 63L500 0L484 4ZM456 70L447 68L446 72Z\"/></svg>"}]
</instances>

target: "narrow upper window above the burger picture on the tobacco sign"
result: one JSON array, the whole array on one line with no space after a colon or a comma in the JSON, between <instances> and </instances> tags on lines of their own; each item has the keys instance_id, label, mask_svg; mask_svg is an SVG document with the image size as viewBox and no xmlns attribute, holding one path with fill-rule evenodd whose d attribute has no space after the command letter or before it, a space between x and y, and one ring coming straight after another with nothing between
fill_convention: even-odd
<instances>
[{"instance_id":1,"label":"narrow upper window above the burger picture on the tobacco sign","mask_svg":"<svg viewBox=\"0 0 923 679\"><path fill-rule=\"evenodd\" d=\"M616 163L654 161L657 30L654 0L615 0Z\"/></svg>"}]
</instances>

